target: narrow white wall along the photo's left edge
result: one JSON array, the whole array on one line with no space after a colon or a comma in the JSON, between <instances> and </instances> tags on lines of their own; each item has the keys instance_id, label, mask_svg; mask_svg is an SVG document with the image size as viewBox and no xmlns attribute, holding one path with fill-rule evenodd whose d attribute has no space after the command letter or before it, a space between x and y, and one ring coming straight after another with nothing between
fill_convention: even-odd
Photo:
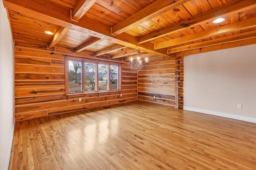
<instances>
[{"instance_id":1,"label":"narrow white wall along the photo's left edge","mask_svg":"<svg viewBox=\"0 0 256 170\"><path fill-rule=\"evenodd\" d=\"M0 170L7 170L14 132L14 44L0 1Z\"/></svg>"}]
</instances>

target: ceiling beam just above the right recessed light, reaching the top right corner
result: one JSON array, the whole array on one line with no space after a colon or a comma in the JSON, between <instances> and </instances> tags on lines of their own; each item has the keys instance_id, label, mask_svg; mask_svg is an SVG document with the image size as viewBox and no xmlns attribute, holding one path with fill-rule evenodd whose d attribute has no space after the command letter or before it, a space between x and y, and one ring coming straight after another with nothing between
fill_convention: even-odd
<instances>
[{"instance_id":1,"label":"ceiling beam just above the right recessed light, reaching the top right corner","mask_svg":"<svg viewBox=\"0 0 256 170\"><path fill-rule=\"evenodd\" d=\"M198 14L186 20L182 20L180 22L176 22L170 26L161 28L159 30L150 32L149 34L138 37L138 43L144 43L151 40L155 40L157 38L167 36L174 32L182 31L188 28L191 28L196 25L200 25L206 22L212 22L214 19L219 17L226 17L228 15L238 13L240 11L246 11L251 8L256 7L255 0L235 0L228 4L222 5L217 8L213 8L212 10L208 10L203 12L202 14Z\"/></svg>"}]
</instances>

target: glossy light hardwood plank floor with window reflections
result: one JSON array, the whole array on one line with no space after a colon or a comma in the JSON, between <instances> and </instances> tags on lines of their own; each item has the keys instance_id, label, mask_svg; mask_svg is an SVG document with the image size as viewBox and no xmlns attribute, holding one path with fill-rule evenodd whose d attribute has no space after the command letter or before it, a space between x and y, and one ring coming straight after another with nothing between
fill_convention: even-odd
<instances>
[{"instance_id":1,"label":"glossy light hardwood plank floor with window reflections","mask_svg":"<svg viewBox=\"0 0 256 170\"><path fill-rule=\"evenodd\" d=\"M144 102L16 122L9 169L256 169L256 125Z\"/></svg>"}]
</instances>

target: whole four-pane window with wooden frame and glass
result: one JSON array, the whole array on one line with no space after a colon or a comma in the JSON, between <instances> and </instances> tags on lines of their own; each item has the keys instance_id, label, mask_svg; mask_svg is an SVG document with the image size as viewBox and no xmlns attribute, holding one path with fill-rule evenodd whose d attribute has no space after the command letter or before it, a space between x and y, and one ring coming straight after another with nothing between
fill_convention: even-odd
<instances>
[{"instance_id":1,"label":"whole four-pane window with wooden frame and glass","mask_svg":"<svg viewBox=\"0 0 256 170\"><path fill-rule=\"evenodd\" d=\"M120 64L78 57L65 58L66 94L120 90Z\"/></svg>"}]
</instances>

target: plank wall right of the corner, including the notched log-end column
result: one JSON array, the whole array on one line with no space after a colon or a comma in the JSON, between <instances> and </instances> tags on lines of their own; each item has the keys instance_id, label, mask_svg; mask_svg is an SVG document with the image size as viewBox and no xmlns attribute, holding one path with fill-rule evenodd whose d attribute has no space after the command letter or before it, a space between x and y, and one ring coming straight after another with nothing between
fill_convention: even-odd
<instances>
[{"instance_id":1,"label":"plank wall right of the corner, including the notched log-end column","mask_svg":"<svg viewBox=\"0 0 256 170\"><path fill-rule=\"evenodd\" d=\"M150 61L138 70L138 100L183 107L183 58ZM155 96L155 98L154 98Z\"/></svg>"}]
</instances>

